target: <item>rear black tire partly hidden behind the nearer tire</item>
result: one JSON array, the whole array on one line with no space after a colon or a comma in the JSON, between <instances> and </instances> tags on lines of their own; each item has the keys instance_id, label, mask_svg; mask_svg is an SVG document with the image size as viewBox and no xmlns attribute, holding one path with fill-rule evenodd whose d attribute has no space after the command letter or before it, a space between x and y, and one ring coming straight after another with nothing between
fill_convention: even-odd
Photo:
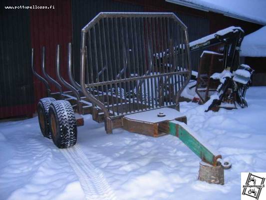
<instances>
[{"instance_id":1,"label":"rear black tire partly hidden behind the nearer tire","mask_svg":"<svg viewBox=\"0 0 266 200\"><path fill-rule=\"evenodd\" d=\"M49 111L49 106L53 101L55 101L55 98L52 97L41 98L37 105L40 130L42 135L48 138L51 138L51 133L49 130L48 111Z\"/></svg>"}]
</instances>

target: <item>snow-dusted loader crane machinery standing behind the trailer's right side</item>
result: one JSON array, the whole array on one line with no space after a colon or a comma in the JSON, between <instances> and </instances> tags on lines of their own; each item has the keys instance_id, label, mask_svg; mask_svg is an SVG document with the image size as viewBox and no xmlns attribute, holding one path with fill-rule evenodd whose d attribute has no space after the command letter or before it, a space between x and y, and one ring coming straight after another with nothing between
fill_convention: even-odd
<instances>
[{"instance_id":1,"label":"snow-dusted loader crane machinery standing behind the trailer's right side","mask_svg":"<svg viewBox=\"0 0 266 200\"><path fill-rule=\"evenodd\" d=\"M241 27L230 26L190 42L191 51L217 44L222 51L203 51L201 55L196 92L203 103L211 99L206 111L248 106L245 94L251 83L253 69L240 64L239 52L243 38Z\"/></svg>"}]
</instances>

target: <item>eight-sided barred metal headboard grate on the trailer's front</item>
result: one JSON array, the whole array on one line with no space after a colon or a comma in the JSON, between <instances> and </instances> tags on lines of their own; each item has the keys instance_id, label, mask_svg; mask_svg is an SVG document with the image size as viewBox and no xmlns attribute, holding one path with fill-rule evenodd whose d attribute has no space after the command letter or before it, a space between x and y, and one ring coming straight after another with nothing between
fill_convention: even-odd
<instances>
[{"instance_id":1,"label":"eight-sided barred metal headboard grate on the trailer's front","mask_svg":"<svg viewBox=\"0 0 266 200\"><path fill-rule=\"evenodd\" d=\"M81 37L82 91L106 117L178 103L191 67L187 27L175 14L101 12Z\"/></svg>"}]
</instances>

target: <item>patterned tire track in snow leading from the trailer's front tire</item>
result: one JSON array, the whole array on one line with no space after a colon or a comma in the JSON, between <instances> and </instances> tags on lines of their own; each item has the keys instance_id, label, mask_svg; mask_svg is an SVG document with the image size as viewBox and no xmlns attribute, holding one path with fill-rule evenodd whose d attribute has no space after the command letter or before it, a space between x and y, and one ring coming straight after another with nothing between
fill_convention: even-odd
<instances>
[{"instance_id":1,"label":"patterned tire track in snow leading from the trailer's front tire","mask_svg":"<svg viewBox=\"0 0 266 200\"><path fill-rule=\"evenodd\" d=\"M78 144L60 150L77 174L86 199L116 200L103 173L88 160Z\"/></svg>"}]
</instances>

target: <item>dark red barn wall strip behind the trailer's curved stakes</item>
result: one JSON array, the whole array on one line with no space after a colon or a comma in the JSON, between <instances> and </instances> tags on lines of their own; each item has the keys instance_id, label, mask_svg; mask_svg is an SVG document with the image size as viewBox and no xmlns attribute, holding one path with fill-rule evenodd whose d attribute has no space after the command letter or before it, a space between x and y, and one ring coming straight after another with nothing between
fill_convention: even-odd
<instances>
[{"instance_id":1,"label":"dark red barn wall strip behind the trailer's curved stakes","mask_svg":"<svg viewBox=\"0 0 266 200\"><path fill-rule=\"evenodd\" d=\"M70 0L30 0L30 5L54 6L54 9L30 9L31 46L34 48L34 67L41 72L41 46L46 51L46 71L55 78L56 45L61 45L61 72L67 80L67 43L72 41L71 1ZM43 76L43 75L42 75ZM46 96L45 85L33 76L34 108L38 100ZM52 92L58 91L50 85Z\"/></svg>"}]
</instances>

